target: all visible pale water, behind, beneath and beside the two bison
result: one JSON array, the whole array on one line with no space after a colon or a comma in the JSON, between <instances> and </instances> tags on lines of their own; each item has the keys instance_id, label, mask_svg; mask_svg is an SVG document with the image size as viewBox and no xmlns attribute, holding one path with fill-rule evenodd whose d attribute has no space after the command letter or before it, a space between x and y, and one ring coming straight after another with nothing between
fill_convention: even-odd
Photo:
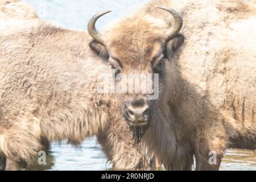
<instances>
[{"instance_id":1,"label":"all visible pale water, behind, beneath and beside the two bison","mask_svg":"<svg viewBox=\"0 0 256 182\"><path fill-rule=\"evenodd\" d=\"M90 17L99 11L113 10L98 20L97 27L103 30L112 20L132 13L147 0L24 0L34 6L38 15L57 26L75 30L86 30ZM111 169L95 138L87 139L80 148L65 143L53 143L47 164L37 161L31 170L108 170ZM221 170L256 170L254 151L228 150L221 164Z\"/></svg>"}]
</instances>

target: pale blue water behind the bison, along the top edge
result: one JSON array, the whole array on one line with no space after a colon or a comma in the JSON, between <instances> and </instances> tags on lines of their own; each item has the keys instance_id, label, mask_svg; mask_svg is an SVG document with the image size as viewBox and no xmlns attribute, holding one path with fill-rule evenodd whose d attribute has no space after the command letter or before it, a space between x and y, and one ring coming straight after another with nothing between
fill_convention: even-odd
<instances>
[{"instance_id":1,"label":"pale blue water behind the bison, along the top edge","mask_svg":"<svg viewBox=\"0 0 256 182\"><path fill-rule=\"evenodd\" d=\"M86 30L87 22L96 13L113 10L97 21L99 30L117 17L132 13L148 0L23 0L34 6L38 15L57 26Z\"/></svg>"}]
</instances>

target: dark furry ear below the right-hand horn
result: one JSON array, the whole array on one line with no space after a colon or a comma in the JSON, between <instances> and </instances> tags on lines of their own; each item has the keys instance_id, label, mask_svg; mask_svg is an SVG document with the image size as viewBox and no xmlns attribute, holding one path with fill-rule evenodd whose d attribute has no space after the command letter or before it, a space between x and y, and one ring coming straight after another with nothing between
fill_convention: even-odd
<instances>
[{"instance_id":1,"label":"dark furry ear below the right-hand horn","mask_svg":"<svg viewBox=\"0 0 256 182\"><path fill-rule=\"evenodd\" d=\"M174 55L175 51L184 43L184 36L181 34L177 34L174 38L172 38L166 44L166 53L167 57L171 58Z\"/></svg>"}]
</instances>

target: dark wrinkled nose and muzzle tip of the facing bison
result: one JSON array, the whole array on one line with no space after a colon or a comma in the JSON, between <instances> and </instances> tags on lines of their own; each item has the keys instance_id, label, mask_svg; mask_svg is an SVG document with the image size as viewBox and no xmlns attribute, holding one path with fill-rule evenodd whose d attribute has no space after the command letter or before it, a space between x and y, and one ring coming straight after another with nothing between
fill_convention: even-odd
<instances>
[{"instance_id":1,"label":"dark wrinkled nose and muzzle tip of the facing bison","mask_svg":"<svg viewBox=\"0 0 256 182\"><path fill-rule=\"evenodd\" d=\"M125 116L129 122L147 123L151 117L151 106L147 100L131 100L125 104Z\"/></svg>"}]
</instances>

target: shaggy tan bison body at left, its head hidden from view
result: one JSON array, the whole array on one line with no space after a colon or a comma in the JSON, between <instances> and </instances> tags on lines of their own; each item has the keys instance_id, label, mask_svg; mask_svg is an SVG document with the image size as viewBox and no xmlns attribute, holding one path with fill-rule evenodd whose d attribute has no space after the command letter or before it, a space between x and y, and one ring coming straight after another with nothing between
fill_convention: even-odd
<instances>
[{"instance_id":1,"label":"shaggy tan bison body at left, its head hidden from view","mask_svg":"<svg viewBox=\"0 0 256 182\"><path fill-rule=\"evenodd\" d=\"M6 169L22 169L48 141L80 144L95 134L114 168L142 167L145 151L97 93L109 65L90 51L86 32L43 22L15 0L0 2L0 30L0 167L6 157Z\"/></svg>"}]
</instances>

